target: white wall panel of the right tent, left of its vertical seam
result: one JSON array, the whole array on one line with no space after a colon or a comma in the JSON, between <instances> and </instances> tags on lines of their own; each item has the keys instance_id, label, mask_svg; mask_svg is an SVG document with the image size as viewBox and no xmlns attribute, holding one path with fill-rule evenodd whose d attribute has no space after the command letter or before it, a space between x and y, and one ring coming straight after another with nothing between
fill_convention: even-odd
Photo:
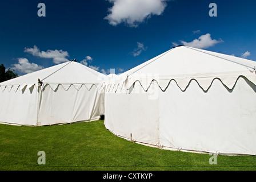
<instances>
[{"instance_id":1,"label":"white wall panel of the right tent, left of its vertical seam","mask_svg":"<svg viewBox=\"0 0 256 182\"><path fill-rule=\"evenodd\" d=\"M158 100L149 100L150 92L144 92L138 84L127 91L129 94L125 90L106 92L105 126L129 140L159 143Z\"/></svg>"}]
</instances>

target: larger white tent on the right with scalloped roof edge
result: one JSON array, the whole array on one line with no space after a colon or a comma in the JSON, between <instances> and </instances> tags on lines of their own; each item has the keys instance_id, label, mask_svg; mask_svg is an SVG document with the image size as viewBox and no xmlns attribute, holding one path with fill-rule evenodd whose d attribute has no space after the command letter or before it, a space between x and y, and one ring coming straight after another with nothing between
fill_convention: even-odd
<instances>
[{"instance_id":1,"label":"larger white tent on the right with scalloped roof edge","mask_svg":"<svg viewBox=\"0 0 256 182\"><path fill-rule=\"evenodd\" d=\"M202 49L170 49L106 85L106 129L169 150L256 155L255 66Z\"/></svg>"}]
</instances>

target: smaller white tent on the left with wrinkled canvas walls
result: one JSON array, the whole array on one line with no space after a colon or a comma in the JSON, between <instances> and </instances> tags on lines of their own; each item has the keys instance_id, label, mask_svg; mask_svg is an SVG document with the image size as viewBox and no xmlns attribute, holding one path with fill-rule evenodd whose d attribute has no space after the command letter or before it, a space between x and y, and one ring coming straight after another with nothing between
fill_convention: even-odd
<instances>
[{"instance_id":1,"label":"smaller white tent on the left with wrinkled canvas walls","mask_svg":"<svg viewBox=\"0 0 256 182\"><path fill-rule=\"evenodd\" d=\"M105 77L67 61L1 82L0 122L43 126L97 120L104 114Z\"/></svg>"}]
</instances>

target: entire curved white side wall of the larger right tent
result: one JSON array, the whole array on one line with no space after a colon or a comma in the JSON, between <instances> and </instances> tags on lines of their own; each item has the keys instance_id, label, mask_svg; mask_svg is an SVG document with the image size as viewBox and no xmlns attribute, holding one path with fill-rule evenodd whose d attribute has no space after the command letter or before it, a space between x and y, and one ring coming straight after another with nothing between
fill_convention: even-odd
<instances>
[{"instance_id":1,"label":"entire curved white side wall of the larger right tent","mask_svg":"<svg viewBox=\"0 0 256 182\"><path fill-rule=\"evenodd\" d=\"M195 80L184 92L175 81L165 92L156 85L106 93L106 128L170 150L256 155L256 86L246 78L232 90L218 79L206 92Z\"/></svg>"}]
</instances>

